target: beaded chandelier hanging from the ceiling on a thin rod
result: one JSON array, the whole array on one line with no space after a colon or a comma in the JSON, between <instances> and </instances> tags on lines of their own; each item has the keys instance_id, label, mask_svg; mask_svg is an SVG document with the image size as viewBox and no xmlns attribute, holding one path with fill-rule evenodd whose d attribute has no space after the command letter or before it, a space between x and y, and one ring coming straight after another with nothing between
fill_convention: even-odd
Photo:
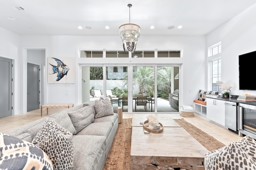
<instances>
[{"instance_id":1,"label":"beaded chandelier hanging from the ceiling on a thin rod","mask_svg":"<svg viewBox=\"0 0 256 170\"><path fill-rule=\"evenodd\" d=\"M119 34L121 36L125 53L130 51L134 53L136 49L137 40L140 37L140 26L134 23L130 23L130 8L132 4L128 4L129 7L129 23L123 24L119 27Z\"/></svg>"}]
</instances>

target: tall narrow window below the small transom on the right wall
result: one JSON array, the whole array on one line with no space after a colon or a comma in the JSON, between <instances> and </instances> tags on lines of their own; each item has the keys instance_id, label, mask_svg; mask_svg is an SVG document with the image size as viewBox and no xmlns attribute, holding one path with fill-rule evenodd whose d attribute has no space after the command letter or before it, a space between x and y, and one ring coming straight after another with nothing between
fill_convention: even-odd
<instances>
[{"instance_id":1,"label":"tall narrow window below the small transom on the right wall","mask_svg":"<svg viewBox=\"0 0 256 170\"><path fill-rule=\"evenodd\" d=\"M211 84L212 91L219 91L219 88L216 84L217 81L221 81L221 59L217 59L211 62Z\"/></svg>"}]
</instances>

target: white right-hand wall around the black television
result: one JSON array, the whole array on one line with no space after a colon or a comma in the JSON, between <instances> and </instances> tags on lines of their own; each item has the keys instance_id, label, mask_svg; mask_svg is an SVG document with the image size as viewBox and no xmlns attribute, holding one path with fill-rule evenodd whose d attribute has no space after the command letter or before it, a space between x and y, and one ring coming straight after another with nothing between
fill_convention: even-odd
<instances>
[{"instance_id":1,"label":"white right-hand wall around the black television","mask_svg":"<svg viewBox=\"0 0 256 170\"><path fill-rule=\"evenodd\" d=\"M232 86L231 94L256 95L254 90L239 90L238 56L256 51L256 4L234 17L206 37L206 47L221 41L222 82ZM250 62L250 61L248 61ZM254 73L248 75L254 78Z\"/></svg>"}]
</instances>

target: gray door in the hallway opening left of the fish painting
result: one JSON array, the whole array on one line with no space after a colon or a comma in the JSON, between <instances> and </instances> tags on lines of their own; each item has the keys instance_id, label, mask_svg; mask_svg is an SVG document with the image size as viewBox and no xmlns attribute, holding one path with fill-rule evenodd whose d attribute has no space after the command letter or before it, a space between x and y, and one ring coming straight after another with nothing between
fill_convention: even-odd
<instances>
[{"instance_id":1,"label":"gray door in the hallway opening left of the fish painting","mask_svg":"<svg viewBox=\"0 0 256 170\"><path fill-rule=\"evenodd\" d=\"M39 109L39 65L28 63L27 111Z\"/></svg>"}]
</instances>

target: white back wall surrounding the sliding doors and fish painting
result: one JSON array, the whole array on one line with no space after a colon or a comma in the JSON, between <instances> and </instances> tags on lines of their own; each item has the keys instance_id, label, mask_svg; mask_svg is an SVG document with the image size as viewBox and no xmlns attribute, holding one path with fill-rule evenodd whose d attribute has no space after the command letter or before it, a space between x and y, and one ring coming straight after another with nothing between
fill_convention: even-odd
<instances>
[{"instance_id":1,"label":"white back wall surrounding the sliding doors and fish painting","mask_svg":"<svg viewBox=\"0 0 256 170\"><path fill-rule=\"evenodd\" d=\"M45 48L47 57L78 57L78 49L120 49L117 36L22 36L21 47ZM192 104L198 90L206 88L206 59L204 36L141 36L136 49L183 49L182 105ZM100 60L101 61L101 60ZM76 62L77 63L77 62ZM47 65L47 64L46 64ZM203 70L203 71L202 71ZM76 66L78 72L78 65ZM78 104L78 81L75 84L47 84L47 103ZM189 90L191 89L191 92ZM69 92L69 96L65 92Z\"/></svg>"}]
</instances>

